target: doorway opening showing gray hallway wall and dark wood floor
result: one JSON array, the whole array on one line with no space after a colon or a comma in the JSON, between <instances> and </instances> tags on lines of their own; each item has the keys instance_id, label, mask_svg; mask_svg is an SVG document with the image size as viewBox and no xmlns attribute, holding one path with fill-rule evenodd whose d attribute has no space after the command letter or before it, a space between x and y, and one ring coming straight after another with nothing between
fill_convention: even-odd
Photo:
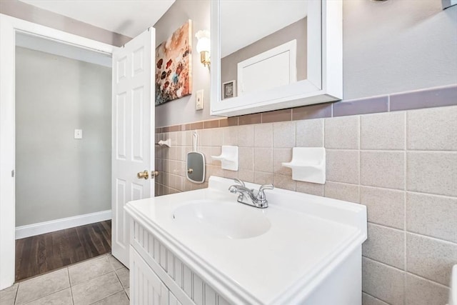
<instances>
[{"instance_id":1,"label":"doorway opening showing gray hallway wall and dark wood floor","mask_svg":"<svg viewBox=\"0 0 457 305\"><path fill-rule=\"evenodd\" d=\"M16 33L15 57L19 281L111 251L111 54Z\"/></svg>"}]
</instances>

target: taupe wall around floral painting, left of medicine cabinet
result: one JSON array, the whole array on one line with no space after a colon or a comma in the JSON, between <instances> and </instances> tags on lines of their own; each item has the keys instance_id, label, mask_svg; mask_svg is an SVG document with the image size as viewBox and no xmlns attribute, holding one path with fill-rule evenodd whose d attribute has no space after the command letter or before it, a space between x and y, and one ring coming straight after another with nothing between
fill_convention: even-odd
<instances>
[{"instance_id":1,"label":"taupe wall around floral painting, left of medicine cabinet","mask_svg":"<svg viewBox=\"0 0 457 305\"><path fill-rule=\"evenodd\" d=\"M176 0L168 11L154 25L156 46L173 34L188 19L192 20L192 94L181 99L156 106L156 126L186 123L209 119L209 69L200 63L200 54L196 51L195 33L201 29L210 29L209 0ZM204 89L204 109L195 110L196 91Z\"/></svg>"}]
</instances>

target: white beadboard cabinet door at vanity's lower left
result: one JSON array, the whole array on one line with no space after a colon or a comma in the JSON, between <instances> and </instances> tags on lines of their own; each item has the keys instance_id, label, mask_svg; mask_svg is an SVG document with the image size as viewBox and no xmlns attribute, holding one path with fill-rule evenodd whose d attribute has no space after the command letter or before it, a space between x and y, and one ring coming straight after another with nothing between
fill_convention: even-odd
<instances>
[{"instance_id":1,"label":"white beadboard cabinet door at vanity's lower left","mask_svg":"<svg viewBox=\"0 0 457 305\"><path fill-rule=\"evenodd\" d=\"M169 289L132 246L130 247L130 304L169 305ZM171 304L179 304L174 296L171 296Z\"/></svg>"}]
</instances>

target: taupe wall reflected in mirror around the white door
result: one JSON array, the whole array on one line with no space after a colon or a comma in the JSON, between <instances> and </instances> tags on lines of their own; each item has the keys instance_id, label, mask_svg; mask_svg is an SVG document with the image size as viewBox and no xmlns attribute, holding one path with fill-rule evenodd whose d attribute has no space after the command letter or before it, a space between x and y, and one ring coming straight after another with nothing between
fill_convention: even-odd
<instances>
[{"instance_id":1,"label":"taupe wall reflected in mirror around the white door","mask_svg":"<svg viewBox=\"0 0 457 305\"><path fill-rule=\"evenodd\" d=\"M306 18L298 20L279 31L274 32L243 49L233 52L221 59L221 83L235 79L238 82L238 63L261 54L276 46L285 44L293 39L297 40L297 81L306 79Z\"/></svg>"}]
</instances>

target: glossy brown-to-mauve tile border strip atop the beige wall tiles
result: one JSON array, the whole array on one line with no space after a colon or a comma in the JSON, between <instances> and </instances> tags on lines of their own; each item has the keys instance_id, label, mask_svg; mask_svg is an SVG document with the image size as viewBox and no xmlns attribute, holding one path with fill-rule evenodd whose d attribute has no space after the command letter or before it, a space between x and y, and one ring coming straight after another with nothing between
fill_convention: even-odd
<instances>
[{"instance_id":1,"label":"glossy brown-to-mauve tile border strip atop the beige wall tiles","mask_svg":"<svg viewBox=\"0 0 457 305\"><path fill-rule=\"evenodd\" d=\"M276 123L280 121L297 121L321 119L358 114L377 114L391 111L426 109L441 106L457 105L457 85L434 87L403 93L370 96L363 99L348 99L326 104L314 104L296 108L281 109L232 116L224 119L210 119L188 124L156 127L156 134L173 131L209 129L226 126Z\"/></svg>"}]
</instances>

